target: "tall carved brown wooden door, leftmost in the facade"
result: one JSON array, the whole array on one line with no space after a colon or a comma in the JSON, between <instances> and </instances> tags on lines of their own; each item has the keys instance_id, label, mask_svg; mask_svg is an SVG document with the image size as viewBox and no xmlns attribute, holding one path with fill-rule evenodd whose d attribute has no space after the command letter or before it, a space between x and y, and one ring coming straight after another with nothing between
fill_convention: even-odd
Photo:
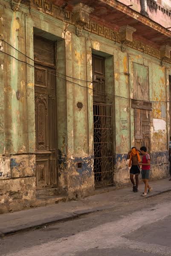
<instances>
[{"instance_id":1,"label":"tall carved brown wooden door, leftmost in the facade","mask_svg":"<svg viewBox=\"0 0 171 256\"><path fill-rule=\"evenodd\" d=\"M35 38L35 44L36 185L51 188L57 186L58 180L55 67L49 63L52 61L48 59L48 50L40 52L40 47L36 50L37 44L43 44L41 38ZM46 41L46 49L48 47L51 51L52 43Z\"/></svg>"}]
</instances>

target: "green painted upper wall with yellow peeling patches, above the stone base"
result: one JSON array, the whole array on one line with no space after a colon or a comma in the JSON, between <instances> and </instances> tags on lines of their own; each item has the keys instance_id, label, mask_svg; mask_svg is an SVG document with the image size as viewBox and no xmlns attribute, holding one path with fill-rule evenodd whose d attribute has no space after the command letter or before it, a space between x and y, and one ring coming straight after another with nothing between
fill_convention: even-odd
<instances>
[{"instance_id":1,"label":"green painted upper wall with yellow peeling patches, above the stone base","mask_svg":"<svg viewBox=\"0 0 171 256\"><path fill-rule=\"evenodd\" d=\"M113 153L119 155L116 169L121 170L115 173L114 179L120 183L128 182L128 173L125 172L125 166L128 164L124 156L134 145L134 119L131 108L133 63L148 67L150 100L162 101L152 104L151 151L167 150L169 115L165 101L168 99L169 64L167 69L165 66L162 68L159 60L130 48L122 52L119 44L95 34L83 32L82 36L78 37L73 25L38 10L31 10L29 13L29 9L24 6L20 7L20 11L13 12L10 3L5 3L6 8L0 6L0 15L3 17L3 38L9 44L33 58L33 28L46 32L46 38L57 41L57 71L66 75L68 80L57 78L56 132L58 150L65 158L60 168L70 170L67 179L63 175L61 186L66 183L71 188L75 186L75 190L94 186L93 162L89 166L87 180L80 176L76 167L76 158L90 158L93 152L93 93L91 89L72 83L92 87L92 52L106 57L106 88L113 105ZM0 26L2 27L1 21ZM33 65L33 61L5 43L3 50ZM3 64L3 69L1 67L0 70L0 97L4 102L0 103L0 153L33 153L34 68L7 55L2 57L1 54L0 61L0 64ZM60 75L57 73L57 76ZM66 76L62 78L65 79ZM20 100L16 97L17 90L20 90ZM83 108L77 107L78 102L83 104ZM156 119L161 123L160 126L157 126ZM79 182L74 185L77 179Z\"/></svg>"}]
</instances>

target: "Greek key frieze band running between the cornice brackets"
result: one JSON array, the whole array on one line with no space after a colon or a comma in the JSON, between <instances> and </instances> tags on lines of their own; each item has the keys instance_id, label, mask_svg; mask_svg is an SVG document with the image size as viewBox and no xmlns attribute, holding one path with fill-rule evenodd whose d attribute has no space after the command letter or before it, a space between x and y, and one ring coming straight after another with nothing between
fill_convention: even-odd
<instances>
[{"instance_id":1,"label":"Greek key frieze band running between the cornice brackets","mask_svg":"<svg viewBox=\"0 0 171 256\"><path fill-rule=\"evenodd\" d=\"M44 12L60 20L65 20L67 21L67 23L74 24L72 21L72 12L68 10L61 11L61 8L59 6L49 3L47 0L31 0L31 7L33 9L38 9L40 12ZM93 20L90 20L89 23L86 26L84 26L84 30L121 44L119 40L119 32L110 29L106 26L103 26L99 23L96 23ZM133 40L132 42L129 42L127 44L127 47L151 55L154 58L161 59L159 49L144 44L140 41ZM171 60L167 60L167 62L171 64Z\"/></svg>"}]
</instances>

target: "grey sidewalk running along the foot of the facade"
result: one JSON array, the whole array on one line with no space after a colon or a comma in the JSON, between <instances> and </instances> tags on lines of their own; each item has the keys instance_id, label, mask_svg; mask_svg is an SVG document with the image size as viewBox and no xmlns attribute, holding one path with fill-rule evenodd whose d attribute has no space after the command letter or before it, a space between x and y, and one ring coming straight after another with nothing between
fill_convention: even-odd
<instances>
[{"instance_id":1,"label":"grey sidewalk running along the foot of the facade","mask_svg":"<svg viewBox=\"0 0 171 256\"><path fill-rule=\"evenodd\" d=\"M171 191L171 181L168 181L168 179L153 181L151 186L154 190L146 198ZM46 226L47 224L78 218L91 212L116 209L116 207L119 207L124 202L137 200L137 198L145 200L145 198L140 197L143 189L144 184L139 185L138 193L133 193L132 187L116 190L111 188L110 192L100 194L100 191L97 191L96 195L78 201L68 201L46 207L2 214L0 215L0 237L22 230L34 229Z\"/></svg>"}]
</instances>

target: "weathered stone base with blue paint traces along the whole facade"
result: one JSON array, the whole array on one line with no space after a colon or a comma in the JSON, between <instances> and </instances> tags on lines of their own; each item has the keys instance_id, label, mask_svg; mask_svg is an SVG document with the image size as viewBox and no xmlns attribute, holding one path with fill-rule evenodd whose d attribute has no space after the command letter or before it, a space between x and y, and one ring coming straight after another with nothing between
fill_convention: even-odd
<instances>
[{"instance_id":1,"label":"weathered stone base with blue paint traces along the whole facade","mask_svg":"<svg viewBox=\"0 0 171 256\"><path fill-rule=\"evenodd\" d=\"M126 157L126 154L116 154L115 157L113 180L117 188L130 185L129 161ZM86 164L79 167L78 163ZM64 192L63 196L59 198L58 195L50 200L40 196L37 199L35 155L0 157L0 213L94 195L93 159L70 159L67 165L67 169L60 170L58 184L59 190ZM151 180L168 177L168 151L151 153L150 175Z\"/></svg>"}]
</instances>

